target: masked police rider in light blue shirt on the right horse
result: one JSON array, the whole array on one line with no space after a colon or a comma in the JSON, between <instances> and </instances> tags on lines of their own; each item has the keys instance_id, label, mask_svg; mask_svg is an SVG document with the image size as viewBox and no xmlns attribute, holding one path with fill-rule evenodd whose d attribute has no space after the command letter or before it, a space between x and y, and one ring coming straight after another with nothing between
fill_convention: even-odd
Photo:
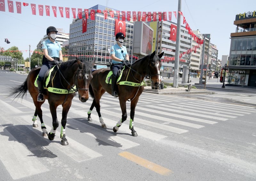
<instances>
[{"instance_id":1,"label":"masked police rider in light blue shirt on the right horse","mask_svg":"<svg viewBox=\"0 0 256 181\"><path fill-rule=\"evenodd\" d=\"M124 42L124 34L123 33L116 33L116 44L111 47L110 56L112 58L112 96L115 98L118 97L117 92L115 91L116 88L116 75L119 69L123 69L124 65L131 66L129 62L129 55L127 53L126 47L123 46Z\"/></svg>"}]
</instances>

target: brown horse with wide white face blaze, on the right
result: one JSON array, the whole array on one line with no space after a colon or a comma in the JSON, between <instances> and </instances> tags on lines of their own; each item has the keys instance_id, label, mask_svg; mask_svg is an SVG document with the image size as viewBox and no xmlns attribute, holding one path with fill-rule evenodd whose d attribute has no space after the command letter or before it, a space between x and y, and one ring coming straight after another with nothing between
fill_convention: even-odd
<instances>
[{"instance_id":1,"label":"brown horse with wide white face blaze, on the right","mask_svg":"<svg viewBox=\"0 0 256 181\"><path fill-rule=\"evenodd\" d=\"M133 119L135 107L138 103L140 94L144 90L144 86L141 86L143 79L147 76L151 78L155 87L160 84L160 68L162 66L161 57L164 52L157 55L155 52L143 57L142 59L134 62L131 67L125 66L120 81L117 83L118 98L122 110L122 118L119 120L113 131L117 132L118 128L127 119L126 113L126 101L131 101L131 112L130 112L130 126L133 136L138 136L133 128ZM109 69L98 69L92 73L92 81L89 86L91 97L93 98L92 105L88 111L88 121L92 121L91 112L93 107L96 107L101 127L107 128L100 114L100 98L107 91L111 94L111 84L106 83L106 77L109 73Z\"/></svg>"}]
</instances>

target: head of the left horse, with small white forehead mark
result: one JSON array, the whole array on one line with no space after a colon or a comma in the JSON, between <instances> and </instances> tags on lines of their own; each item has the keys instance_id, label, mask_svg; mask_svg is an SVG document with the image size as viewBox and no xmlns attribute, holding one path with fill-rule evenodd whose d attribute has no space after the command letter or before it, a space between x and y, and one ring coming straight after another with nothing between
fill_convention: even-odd
<instances>
[{"instance_id":1,"label":"head of the left horse, with small white forehead mark","mask_svg":"<svg viewBox=\"0 0 256 181\"><path fill-rule=\"evenodd\" d=\"M89 84L92 80L92 67L95 62L81 62L78 58L76 58L76 61L78 63L76 73L76 88L79 94L78 97L81 102L86 102L89 99Z\"/></svg>"}]
</instances>

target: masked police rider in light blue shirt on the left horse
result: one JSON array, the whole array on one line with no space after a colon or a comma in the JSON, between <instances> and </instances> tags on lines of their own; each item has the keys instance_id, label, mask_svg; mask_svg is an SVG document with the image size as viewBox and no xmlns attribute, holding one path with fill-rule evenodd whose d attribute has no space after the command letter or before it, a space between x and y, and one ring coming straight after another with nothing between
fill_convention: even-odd
<instances>
[{"instance_id":1,"label":"masked police rider in light blue shirt on the left horse","mask_svg":"<svg viewBox=\"0 0 256 181\"><path fill-rule=\"evenodd\" d=\"M37 101L44 101L44 95L42 94L42 90L44 85L43 80L45 73L54 65L62 63L62 52L60 43L55 40L57 37L57 33L57 29L53 26L49 26L46 29L48 40L45 40L42 45L44 56L42 67L37 78L37 85L39 91Z\"/></svg>"}]
</instances>

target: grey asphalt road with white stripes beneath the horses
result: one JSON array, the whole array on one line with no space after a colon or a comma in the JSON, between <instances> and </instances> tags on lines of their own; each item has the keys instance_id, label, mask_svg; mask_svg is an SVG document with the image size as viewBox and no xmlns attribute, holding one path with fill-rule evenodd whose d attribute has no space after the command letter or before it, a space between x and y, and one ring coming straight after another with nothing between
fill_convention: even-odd
<instances>
[{"instance_id":1,"label":"grey asphalt road with white stripes beneath the horses","mask_svg":"<svg viewBox=\"0 0 256 181\"><path fill-rule=\"evenodd\" d=\"M49 141L40 127L32 127L29 94L22 101L7 98L10 86L26 77L0 70L0 180L256 180L256 107L223 102L220 96L229 91L199 97L143 93L134 119L138 137L131 136L129 113L113 132L121 118L117 98L101 99L108 127L103 129L95 110L87 121L92 100L75 97L66 128L69 145L61 146L59 133ZM49 105L42 107L49 132ZM57 113L60 120L61 106Z\"/></svg>"}]
</instances>

